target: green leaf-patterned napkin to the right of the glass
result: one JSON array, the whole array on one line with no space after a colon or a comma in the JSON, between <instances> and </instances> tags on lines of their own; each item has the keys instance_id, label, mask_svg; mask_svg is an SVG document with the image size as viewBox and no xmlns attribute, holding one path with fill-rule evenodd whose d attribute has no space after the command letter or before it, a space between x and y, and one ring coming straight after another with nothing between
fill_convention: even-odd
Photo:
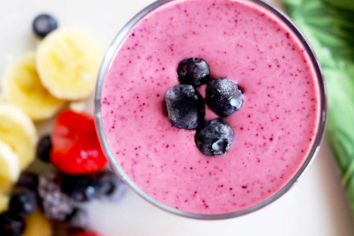
<instances>
[{"instance_id":1,"label":"green leaf-patterned napkin to the right of the glass","mask_svg":"<svg viewBox=\"0 0 354 236\"><path fill-rule=\"evenodd\" d=\"M326 138L354 215L354 0L281 0L312 44L328 91Z\"/></svg>"}]
</instances>

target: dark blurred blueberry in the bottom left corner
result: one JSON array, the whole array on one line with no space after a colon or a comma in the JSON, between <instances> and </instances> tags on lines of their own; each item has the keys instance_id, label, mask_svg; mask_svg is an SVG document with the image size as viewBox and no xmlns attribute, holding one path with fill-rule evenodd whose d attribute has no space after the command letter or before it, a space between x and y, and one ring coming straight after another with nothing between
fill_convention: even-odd
<instances>
[{"instance_id":1,"label":"dark blurred blueberry in the bottom left corner","mask_svg":"<svg viewBox=\"0 0 354 236\"><path fill-rule=\"evenodd\" d=\"M19 215L10 211L0 214L0 235L1 236L19 236L24 230L24 221Z\"/></svg>"}]
</instances>

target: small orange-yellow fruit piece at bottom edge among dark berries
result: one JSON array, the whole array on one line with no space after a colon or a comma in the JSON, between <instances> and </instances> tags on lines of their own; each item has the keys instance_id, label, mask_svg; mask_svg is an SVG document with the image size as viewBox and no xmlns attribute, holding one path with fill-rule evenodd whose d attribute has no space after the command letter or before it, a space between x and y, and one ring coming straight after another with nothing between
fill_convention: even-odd
<instances>
[{"instance_id":1,"label":"small orange-yellow fruit piece at bottom edge among dark berries","mask_svg":"<svg viewBox=\"0 0 354 236\"><path fill-rule=\"evenodd\" d=\"M21 236L51 236L53 234L49 221L39 210L26 215L24 222L26 227Z\"/></svg>"}]
</instances>

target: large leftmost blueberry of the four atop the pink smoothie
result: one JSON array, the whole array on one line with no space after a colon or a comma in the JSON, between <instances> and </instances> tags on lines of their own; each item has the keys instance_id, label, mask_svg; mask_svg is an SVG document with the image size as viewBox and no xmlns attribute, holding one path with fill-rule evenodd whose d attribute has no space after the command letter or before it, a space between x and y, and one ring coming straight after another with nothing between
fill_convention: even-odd
<instances>
[{"instance_id":1,"label":"large leftmost blueberry of the four atop the pink smoothie","mask_svg":"<svg viewBox=\"0 0 354 236\"><path fill-rule=\"evenodd\" d=\"M166 93L165 102L169 120L177 128L193 129L204 120L204 100L192 85L171 87Z\"/></svg>"}]
</instances>

